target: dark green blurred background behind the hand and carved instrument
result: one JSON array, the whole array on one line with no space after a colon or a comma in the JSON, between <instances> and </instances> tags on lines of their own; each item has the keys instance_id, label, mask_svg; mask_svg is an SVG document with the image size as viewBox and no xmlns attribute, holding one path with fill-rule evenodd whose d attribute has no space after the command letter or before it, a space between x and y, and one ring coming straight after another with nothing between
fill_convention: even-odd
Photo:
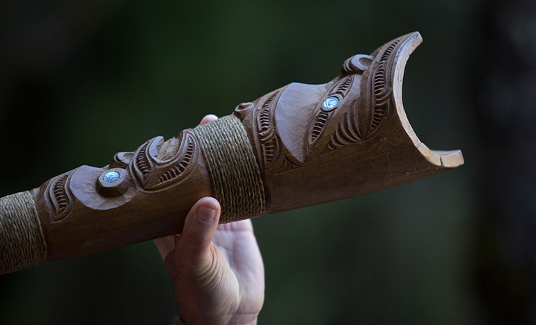
<instances>
[{"instance_id":1,"label":"dark green blurred background behind the hand and carved instrument","mask_svg":"<svg viewBox=\"0 0 536 325\"><path fill-rule=\"evenodd\" d=\"M404 33L404 106L466 165L254 220L259 324L536 323L534 1L0 2L0 195L106 165ZM152 242L0 276L0 324L168 324Z\"/></svg>"}]
</instances>

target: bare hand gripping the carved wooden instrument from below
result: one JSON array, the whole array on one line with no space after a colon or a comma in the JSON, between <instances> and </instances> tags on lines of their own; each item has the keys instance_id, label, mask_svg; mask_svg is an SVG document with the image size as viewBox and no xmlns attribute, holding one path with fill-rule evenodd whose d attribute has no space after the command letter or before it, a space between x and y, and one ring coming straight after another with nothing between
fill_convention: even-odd
<instances>
[{"instance_id":1,"label":"bare hand gripping the carved wooden instrument from below","mask_svg":"<svg viewBox=\"0 0 536 325\"><path fill-rule=\"evenodd\" d=\"M203 117L200 124L217 119ZM203 197L181 235L155 240L177 297L177 324L257 324L265 271L251 220L218 225L221 207Z\"/></svg>"}]
</instances>

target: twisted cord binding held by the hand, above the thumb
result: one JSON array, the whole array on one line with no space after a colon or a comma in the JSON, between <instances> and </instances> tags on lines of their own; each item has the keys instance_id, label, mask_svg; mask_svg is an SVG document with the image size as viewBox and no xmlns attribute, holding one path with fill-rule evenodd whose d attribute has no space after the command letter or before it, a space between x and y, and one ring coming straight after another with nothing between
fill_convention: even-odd
<instances>
[{"instance_id":1,"label":"twisted cord binding held by the hand, above the thumb","mask_svg":"<svg viewBox=\"0 0 536 325\"><path fill-rule=\"evenodd\" d=\"M220 223L265 213L265 190L246 129L234 115L194 128L214 190Z\"/></svg>"}]
</instances>

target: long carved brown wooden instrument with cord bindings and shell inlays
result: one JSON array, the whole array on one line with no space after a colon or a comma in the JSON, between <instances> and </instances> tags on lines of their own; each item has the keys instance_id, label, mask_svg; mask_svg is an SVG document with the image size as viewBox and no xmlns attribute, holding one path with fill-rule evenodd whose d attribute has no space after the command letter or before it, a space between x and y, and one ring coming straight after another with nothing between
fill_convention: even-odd
<instances>
[{"instance_id":1,"label":"long carved brown wooden instrument with cord bindings and shell inlays","mask_svg":"<svg viewBox=\"0 0 536 325\"><path fill-rule=\"evenodd\" d=\"M418 140L402 76L419 33L345 61L329 83L290 83L103 168L81 166L0 199L0 274L180 233L201 197L221 222L354 197L463 164Z\"/></svg>"}]
</instances>

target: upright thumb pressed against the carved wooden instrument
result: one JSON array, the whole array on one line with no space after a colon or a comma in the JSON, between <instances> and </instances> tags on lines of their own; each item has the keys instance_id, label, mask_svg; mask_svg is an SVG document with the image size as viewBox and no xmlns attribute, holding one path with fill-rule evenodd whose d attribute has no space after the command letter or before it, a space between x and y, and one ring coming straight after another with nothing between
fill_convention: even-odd
<instances>
[{"instance_id":1,"label":"upright thumb pressed against the carved wooden instrument","mask_svg":"<svg viewBox=\"0 0 536 325\"><path fill-rule=\"evenodd\" d=\"M182 235L175 246L177 263L194 268L210 264L210 245L218 226L220 210L219 202L212 197L204 197L194 204L184 220Z\"/></svg>"}]
</instances>

